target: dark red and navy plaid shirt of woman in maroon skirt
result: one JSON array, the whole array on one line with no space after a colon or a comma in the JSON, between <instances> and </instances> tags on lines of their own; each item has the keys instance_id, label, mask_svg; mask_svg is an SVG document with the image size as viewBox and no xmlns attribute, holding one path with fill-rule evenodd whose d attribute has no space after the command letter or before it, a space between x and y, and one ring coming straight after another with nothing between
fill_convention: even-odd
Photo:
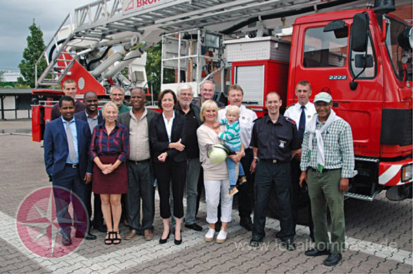
<instances>
[{"instance_id":1,"label":"dark red and navy plaid shirt of woman in maroon skirt","mask_svg":"<svg viewBox=\"0 0 413 274\"><path fill-rule=\"evenodd\" d=\"M107 135L105 122L98 124L92 135L89 154L91 159L99 155L119 155L120 161L125 161L129 155L129 133L126 126L116 122L114 130Z\"/></svg>"}]
</instances>

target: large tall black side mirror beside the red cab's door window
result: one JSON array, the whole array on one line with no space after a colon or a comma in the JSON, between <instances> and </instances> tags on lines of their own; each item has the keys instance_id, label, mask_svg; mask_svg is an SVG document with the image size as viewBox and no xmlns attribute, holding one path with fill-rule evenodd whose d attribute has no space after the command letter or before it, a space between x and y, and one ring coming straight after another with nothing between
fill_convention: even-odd
<instances>
[{"instance_id":1,"label":"large tall black side mirror beside the red cab's door window","mask_svg":"<svg viewBox=\"0 0 413 274\"><path fill-rule=\"evenodd\" d=\"M368 15L357 13L351 25L351 50L353 52L366 52L368 34Z\"/></svg>"}]
</instances>

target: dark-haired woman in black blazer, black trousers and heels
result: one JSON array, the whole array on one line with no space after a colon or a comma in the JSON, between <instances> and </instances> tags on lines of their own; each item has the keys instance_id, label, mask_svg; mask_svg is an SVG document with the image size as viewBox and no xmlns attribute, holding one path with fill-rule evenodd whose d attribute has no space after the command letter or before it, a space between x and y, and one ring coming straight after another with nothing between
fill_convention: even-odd
<instances>
[{"instance_id":1,"label":"dark-haired woman in black blazer, black trousers and heels","mask_svg":"<svg viewBox=\"0 0 413 274\"><path fill-rule=\"evenodd\" d=\"M181 221L184 216L184 183L187 174L187 155L184 152L185 134L184 117L175 112L178 102L176 95L170 89L162 91L158 96L158 106L161 115L153 119L149 128L151 140L151 159L153 171L158 181L160 199L160 216L163 222L163 232L159 239L165 244L169 238L169 189L172 183L173 215L176 219L175 244L181 244Z\"/></svg>"}]
</instances>

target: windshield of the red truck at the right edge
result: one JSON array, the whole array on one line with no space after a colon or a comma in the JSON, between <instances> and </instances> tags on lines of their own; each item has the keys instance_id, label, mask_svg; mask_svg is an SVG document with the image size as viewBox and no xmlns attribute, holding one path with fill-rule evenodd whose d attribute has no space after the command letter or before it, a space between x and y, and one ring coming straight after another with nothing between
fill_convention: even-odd
<instances>
[{"instance_id":1,"label":"windshield of the red truck at the right edge","mask_svg":"<svg viewBox=\"0 0 413 274\"><path fill-rule=\"evenodd\" d=\"M403 48L399 46L399 43L397 43L397 36L399 36L408 25L391 17L388 17L388 19L390 23L387 27L385 45L388 49L393 71L397 78L403 80L405 75L403 64L407 64L407 80L412 80L412 51L405 52Z\"/></svg>"}]
</instances>

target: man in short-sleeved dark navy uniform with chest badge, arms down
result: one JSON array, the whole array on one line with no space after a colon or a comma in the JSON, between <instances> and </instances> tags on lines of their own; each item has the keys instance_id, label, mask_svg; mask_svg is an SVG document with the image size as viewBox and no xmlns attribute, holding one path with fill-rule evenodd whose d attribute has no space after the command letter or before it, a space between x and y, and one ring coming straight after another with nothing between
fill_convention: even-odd
<instances>
[{"instance_id":1,"label":"man in short-sleeved dark navy uniform with chest badge, arms down","mask_svg":"<svg viewBox=\"0 0 413 274\"><path fill-rule=\"evenodd\" d=\"M251 146L255 174L255 207L251 246L258 247L265 236L265 216L271 190L279 205L281 231L277 233L288 250L294 250L294 227L291 212L290 160L301 150L295 122L279 114L282 101L278 93L268 93L268 115L255 121Z\"/></svg>"}]
</instances>

